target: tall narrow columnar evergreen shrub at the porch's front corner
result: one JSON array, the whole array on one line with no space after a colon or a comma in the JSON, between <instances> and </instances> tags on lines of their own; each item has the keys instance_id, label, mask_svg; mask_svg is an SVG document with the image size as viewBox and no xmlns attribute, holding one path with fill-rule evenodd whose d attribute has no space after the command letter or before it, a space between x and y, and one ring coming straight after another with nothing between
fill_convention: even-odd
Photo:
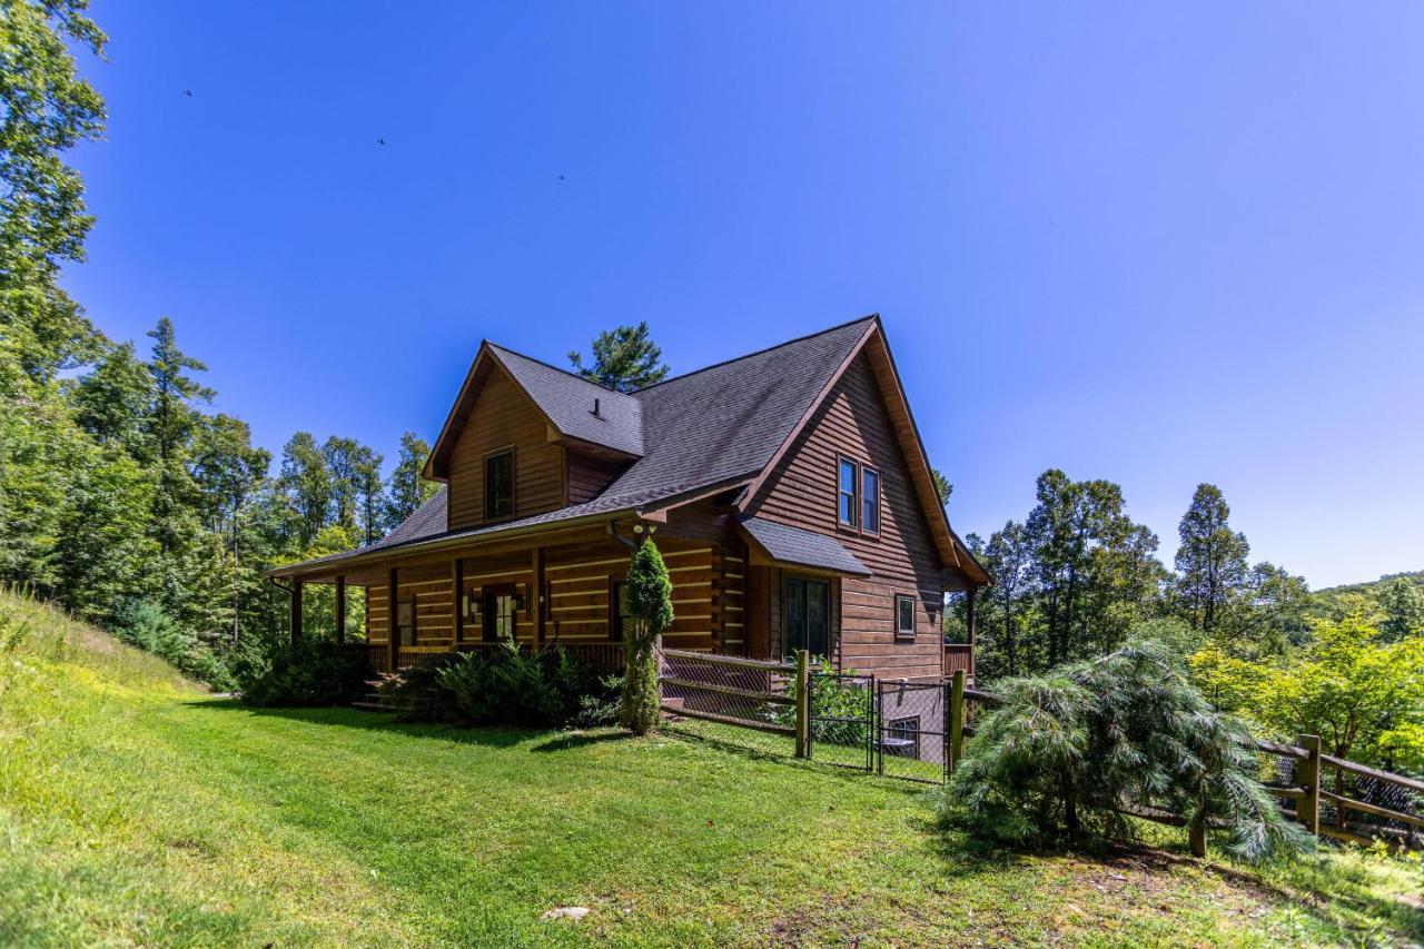
<instances>
[{"instance_id":1,"label":"tall narrow columnar evergreen shrub at the porch's front corner","mask_svg":"<svg viewBox=\"0 0 1424 949\"><path fill-rule=\"evenodd\" d=\"M628 668L618 718L646 735L658 725L658 637L672 626L672 580L651 537L632 551L624 598L632 623L624 633Z\"/></svg>"}]
</instances>

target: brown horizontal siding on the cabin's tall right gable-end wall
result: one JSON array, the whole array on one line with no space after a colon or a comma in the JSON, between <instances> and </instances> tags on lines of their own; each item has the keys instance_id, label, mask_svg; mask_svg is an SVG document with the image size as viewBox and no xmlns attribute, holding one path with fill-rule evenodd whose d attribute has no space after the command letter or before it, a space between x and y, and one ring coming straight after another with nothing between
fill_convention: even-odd
<instances>
[{"instance_id":1,"label":"brown horizontal siding on the cabin's tall right gable-end wall","mask_svg":"<svg viewBox=\"0 0 1424 949\"><path fill-rule=\"evenodd\" d=\"M880 473L880 536L842 530L836 520L836 459ZM832 591L832 630L843 668L887 678L937 677L944 581L938 553L867 358L857 356L778 465L758 517L836 537L871 570ZM780 651L780 571L768 570L770 655ZM896 643L894 597L916 597L914 643ZM931 610L936 621L931 621Z\"/></svg>"}]
</instances>

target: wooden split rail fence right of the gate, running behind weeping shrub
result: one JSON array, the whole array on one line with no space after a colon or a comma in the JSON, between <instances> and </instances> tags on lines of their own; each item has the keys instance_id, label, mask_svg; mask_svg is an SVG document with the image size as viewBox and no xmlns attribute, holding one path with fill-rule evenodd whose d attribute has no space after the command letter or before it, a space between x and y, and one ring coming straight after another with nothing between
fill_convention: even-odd
<instances>
[{"instance_id":1,"label":"wooden split rail fence right of the gate, running behind weeping shrub","mask_svg":"<svg viewBox=\"0 0 1424 949\"><path fill-rule=\"evenodd\" d=\"M967 722L965 711L971 704L994 708L1001 705L1004 700L994 693L967 688L963 673L954 674L950 680L948 688L948 745L950 768L953 769L954 762L964 758L964 740L974 735L974 727ZM1252 742L1249 750L1284 761L1290 765L1289 769L1293 775L1293 781L1290 784L1263 784L1263 787L1274 797L1289 801L1292 807L1283 807L1283 811L1310 834L1314 834L1316 836L1327 836L1336 841L1363 844L1366 846L1373 845L1376 839L1383 839L1388 846L1396 849L1424 848L1424 815L1418 812L1410 814L1396 808L1381 807L1378 804L1370 804L1368 801L1360 801L1349 794L1337 792L1346 788L1346 775L1353 775L1356 778L1373 781L1376 785L1397 788L1408 795L1421 795L1420 799L1424 799L1424 781L1324 754L1320 748L1319 735L1300 735L1294 745L1257 738ZM1334 772L1334 785L1337 788L1334 792L1327 791L1323 787L1327 769ZM1326 807L1333 811L1333 821L1321 819L1321 809ZM1134 816L1156 821L1159 824L1171 824L1173 826L1183 826L1188 824L1188 821L1178 815L1156 811L1153 808L1125 808L1124 811ZM1363 825L1360 822L1351 822L1351 814L1364 814L1380 818L1386 824L1393 822L1403 826L1386 826L1386 824ZM1190 829L1192 852L1198 856L1205 856L1205 828L1193 826Z\"/></svg>"}]
</instances>

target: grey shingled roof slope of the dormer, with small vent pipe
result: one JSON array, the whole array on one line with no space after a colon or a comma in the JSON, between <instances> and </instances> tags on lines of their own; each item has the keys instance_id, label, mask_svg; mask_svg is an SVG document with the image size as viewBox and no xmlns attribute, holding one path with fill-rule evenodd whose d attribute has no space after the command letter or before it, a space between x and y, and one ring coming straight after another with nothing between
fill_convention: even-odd
<instances>
[{"instance_id":1,"label":"grey shingled roof slope of the dormer, with small vent pipe","mask_svg":"<svg viewBox=\"0 0 1424 949\"><path fill-rule=\"evenodd\" d=\"M642 455L642 403L571 372L488 343L520 388L564 435L625 455ZM594 415L594 400L598 415Z\"/></svg>"}]
</instances>

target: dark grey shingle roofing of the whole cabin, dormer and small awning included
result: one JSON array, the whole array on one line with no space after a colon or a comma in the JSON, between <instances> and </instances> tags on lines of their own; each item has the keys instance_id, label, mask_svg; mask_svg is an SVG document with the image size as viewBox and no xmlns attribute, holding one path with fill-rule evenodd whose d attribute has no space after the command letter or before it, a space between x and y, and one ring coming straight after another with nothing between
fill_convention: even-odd
<instances>
[{"instance_id":1,"label":"dark grey shingle roofing of the whole cabin, dormer and small awning included","mask_svg":"<svg viewBox=\"0 0 1424 949\"><path fill-rule=\"evenodd\" d=\"M772 460L874 321L874 316L867 316L833 326L631 395L604 389L491 343L490 351L561 432L641 457L591 502L491 527L447 530L449 490L441 487L382 540L319 561L631 510L702 489L731 486L738 479L750 479ZM588 412L595 396L604 419L595 419ZM809 531L797 533L819 537ZM782 533L776 537L789 543ZM822 540L850 560L853 569L849 573L866 573L833 539ZM797 549L810 550L807 544L810 541L803 540ZM830 556L830 551L822 553Z\"/></svg>"}]
</instances>

